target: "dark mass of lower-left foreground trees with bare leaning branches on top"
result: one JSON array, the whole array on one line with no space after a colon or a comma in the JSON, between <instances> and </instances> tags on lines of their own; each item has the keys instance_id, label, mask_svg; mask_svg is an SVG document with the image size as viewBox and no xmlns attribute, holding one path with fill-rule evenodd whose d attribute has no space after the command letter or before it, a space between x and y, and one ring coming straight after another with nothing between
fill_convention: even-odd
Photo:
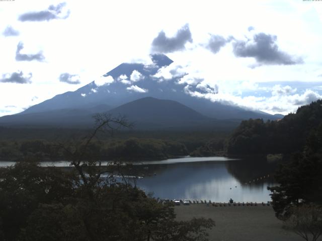
<instances>
[{"instance_id":1,"label":"dark mass of lower-left foreground trees with bare leaning branches on top","mask_svg":"<svg viewBox=\"0 0 322 241\"><path fill-rule=\"evenodd\" d=\"M97 127L87 138L57 145L70 160L68 170L26 161L0 169L0 237L5 241L207 240L206 229L214 226L211 219L178 222L173 206L109 175L111 165L101 165L92 141L105 128L128 125L122 118L97 117Z\"/></svg>"}]
</instances>

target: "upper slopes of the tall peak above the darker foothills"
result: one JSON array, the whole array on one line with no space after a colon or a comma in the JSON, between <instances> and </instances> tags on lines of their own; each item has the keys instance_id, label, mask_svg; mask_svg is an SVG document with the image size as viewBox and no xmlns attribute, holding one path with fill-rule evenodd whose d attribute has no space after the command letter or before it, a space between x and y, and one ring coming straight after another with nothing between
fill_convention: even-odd
<instances>
[{"instance_id":1,"label":"upper slopes of the tall peak above the darker foothills","mask_svg":"<svg viewBox=\"0 0 322 241\"><path fill-rule=\"evenodd\" d=\"M105 77L109 76L109 78L113 77L114 81L112 83L99 86L93 81L76 91L62 93L31 106L22 113L36 113L66 108L88 110L102 103L117 107L142 97L152 96L159 99L178 101L203 115L217 119L278 118L265 112L245 110L238 106L224 105L219 102L212 102L209 99L191 96L185 90L187 84L179 84L179 80L184 74L169 80L154 76L158 70L172 64L171 59L163 54L151 55L151 59L152 65L141 63L120 64L103 75ZM139 74L139 78L132 78L133 73Z\"/></svg>"}]
</instances>

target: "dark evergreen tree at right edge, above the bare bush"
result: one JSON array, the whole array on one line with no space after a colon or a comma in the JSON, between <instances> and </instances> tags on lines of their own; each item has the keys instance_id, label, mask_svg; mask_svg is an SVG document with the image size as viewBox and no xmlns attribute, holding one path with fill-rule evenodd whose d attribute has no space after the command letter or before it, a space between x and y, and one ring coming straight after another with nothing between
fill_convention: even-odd
<instances>
[{"instance_id":1,"label":"dark evergreen tree at right edge, above the bare bush","mask_svg":"<svg viewBox=\"0 0 322 241\"><path fill-rule=\"evenodd\" d=\"M322 205L322 124L312 130L303 153L294 154L275 174L279 186L272 191L273 208L282 220L292 214L292 208L302 204Z\"/></svg>"}]
</instances>

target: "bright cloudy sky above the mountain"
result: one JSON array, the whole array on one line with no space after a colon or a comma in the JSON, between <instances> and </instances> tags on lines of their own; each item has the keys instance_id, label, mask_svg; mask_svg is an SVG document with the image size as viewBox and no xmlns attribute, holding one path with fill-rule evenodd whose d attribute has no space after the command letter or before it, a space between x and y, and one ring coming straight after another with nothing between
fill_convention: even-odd
<instances>
[{"instance_id":1,"label":"bright cloudy sky above the mountain","mask_svg":"<svg viewBox=\"0 0 322 241\"><path fill-rule=\"evenodd\" d=\"M320 1L0 1L0 116L152 53L187 94L287 114L322 98L321 26Z\"/></svg>"}]
</instances>

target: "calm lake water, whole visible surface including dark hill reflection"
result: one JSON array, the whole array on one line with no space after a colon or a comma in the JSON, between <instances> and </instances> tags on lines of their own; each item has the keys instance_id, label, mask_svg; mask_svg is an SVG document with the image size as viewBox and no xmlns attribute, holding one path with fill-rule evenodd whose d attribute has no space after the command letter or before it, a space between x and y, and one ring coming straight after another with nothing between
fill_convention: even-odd
<instances>
[{"instance_id":1,"label":"calm lake water, whole visible surface including dark hill reflection","mask_svg":"<svg viewBox=\"0 0 322 241\"><path fill-rule=\"evenodd\" d=\"M0 162L0 166L13 164ZM69 163L56 162L55 166L68 167ZM136 181L137 186L159 198L267 202L271 200L267 186L275 185L271 178L275 167L276 163L258 159L179 158L142 162L133 166L132 173L143 176Z\"/></svg>"}]
</instances>

